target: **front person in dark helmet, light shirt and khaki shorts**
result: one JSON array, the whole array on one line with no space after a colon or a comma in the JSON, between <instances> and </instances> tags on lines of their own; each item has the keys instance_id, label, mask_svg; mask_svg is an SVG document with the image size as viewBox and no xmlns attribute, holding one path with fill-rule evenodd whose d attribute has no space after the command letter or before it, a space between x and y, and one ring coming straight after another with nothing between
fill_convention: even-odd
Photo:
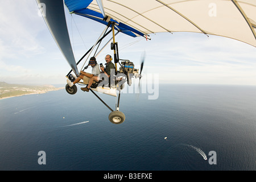
<instances>
[{"instance_id":1,"label":"front person in dark helmet, light shirt and khaki shorts","mask_svg":"<svg viewBox=\"0 0 256 182\"><path fill-rule=\"evenodd\" d=\"M87 73L87 72L84 72L84 71L81 71L80 72L80 76L76 78L76 80L74 82L71 82L70 80L67 79L67 83L70 87L72 87L74 84L78 83L81 79L84 80L84 84L88 84L90 83L90 80L92 80L92 77L93 76L98 76L101 71L100 71L100 67L99 65L97 64L97 61L96 61L96 58L95 57L90 57L90 61L89 61L89 64L91 67L92 67L92 74L90 73ZM93 80L92 80L93 82ZM91 84L92 85L92 84ZM84 90L85 88L81 88L81 90L83 91L86 91ZM88 90L89 91L89 90ZM87 92L88 92L87 91Z\"/></svg>"}]
</instances>

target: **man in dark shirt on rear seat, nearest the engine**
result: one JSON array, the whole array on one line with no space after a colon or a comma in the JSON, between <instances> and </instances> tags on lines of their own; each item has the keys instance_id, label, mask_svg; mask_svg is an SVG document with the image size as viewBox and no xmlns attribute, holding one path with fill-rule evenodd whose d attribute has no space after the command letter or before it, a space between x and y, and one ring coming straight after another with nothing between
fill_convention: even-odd
<instances>
[{"instance_id":1,"label":"man in dark shirt on rear seat, nearest the engine","mask_svg":"<svg viewBox=\"0 0 256 182\"><path fill-rule=\"evenodd\" d=\"M82 91L86 91L89 92L90 90L90 86L93 84L93 81L100 81L102 80L102 78L104 77L108 77L110 78L110 75L113 74L114 69L115 69L115 65L112 63L112 56L110 55L106 55L105 56L105 61L106 61L106 68L104 68L103 66L100 67L101 69L101 74L100 75L94 75L90 80L89 80L89 84L87 87L85 88L81 88ZM103 74L103 75L102 75ZM109 82L108 82L109 83ZM108 84L107 83L107 84Z\"/></svg>"}]
</instances>

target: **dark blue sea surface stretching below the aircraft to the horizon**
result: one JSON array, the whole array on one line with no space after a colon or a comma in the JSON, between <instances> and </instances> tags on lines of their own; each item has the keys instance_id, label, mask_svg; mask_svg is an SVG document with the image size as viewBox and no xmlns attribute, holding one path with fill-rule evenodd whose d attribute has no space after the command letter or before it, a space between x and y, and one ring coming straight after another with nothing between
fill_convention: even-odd
<instances>
[{"instance_id":1,"label":"dark blue sea surface stretching below the aircraft to the horizon","mask_svg":"<svg viewBox=\"0 0 256 182\"><path fill-rule=\"evenodd\" d=\"M157 100L122 94L120 110L114 125L80 88L0 100L0 170L256 170L255 86L159 85Z\"/></svg>"}]
</instances>

